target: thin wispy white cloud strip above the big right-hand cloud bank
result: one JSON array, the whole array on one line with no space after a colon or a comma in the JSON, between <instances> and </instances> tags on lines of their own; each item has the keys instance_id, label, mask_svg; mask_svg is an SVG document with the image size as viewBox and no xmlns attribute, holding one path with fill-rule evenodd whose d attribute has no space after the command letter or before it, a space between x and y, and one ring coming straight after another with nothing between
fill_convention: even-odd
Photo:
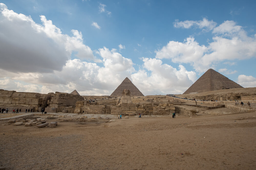
<instances>
[{"instance_id":1,"label":"thin wispy white cloud strip above the big right-hand cloud bank","mask_svg":"<svg viewBox=\"0 0 256 170\"><path fill-rule=\"evenodd\" d=\"M173 25L176 28L191 28L192 26L195 26L200 29L212 30L214 27L216 27L217 23L212 20L209 21L207 18L203 18L200 21L179 21L178 19L176 19Z\"/></svg>"}]
</instances>

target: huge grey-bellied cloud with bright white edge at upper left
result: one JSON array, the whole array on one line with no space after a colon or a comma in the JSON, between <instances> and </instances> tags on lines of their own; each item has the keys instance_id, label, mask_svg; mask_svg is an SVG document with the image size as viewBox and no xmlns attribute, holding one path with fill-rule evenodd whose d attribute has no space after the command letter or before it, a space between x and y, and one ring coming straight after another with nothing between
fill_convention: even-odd
<instances>
[{"instance_id":1,"label":"huge grey-bellied cloud with bright white edge at upper left","mask_svg":"<svg viewBox=\"0 0 256 170\"><path fill-rule=\"evenodd\" d=\"M71 30L72 36L62 34L51 20L40 18L42 25L1 4L0 68L12 72L60 71L73 51L81 59L101 61L83 44L81 32Z\"/></svg>"}]
</instances>

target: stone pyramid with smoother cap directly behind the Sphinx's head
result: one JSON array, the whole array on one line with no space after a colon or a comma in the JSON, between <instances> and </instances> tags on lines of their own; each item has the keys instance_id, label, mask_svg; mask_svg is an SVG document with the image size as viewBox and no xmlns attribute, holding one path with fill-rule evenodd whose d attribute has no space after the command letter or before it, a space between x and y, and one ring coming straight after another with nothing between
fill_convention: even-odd
<instances>
[{"instance_id":1,"label":"stone pyramid with smoother cap directly behind the Sphinx's head","mask_svg":"<svg viewBox=\"0 0 256 170\"><path fill-rule=\"evenodd\" d=\"M110 96L122 96L122 92L124 89L130 90L131 96L144 96L140 92L140 90L127 77Z\"/></svg>"}]
</instances>

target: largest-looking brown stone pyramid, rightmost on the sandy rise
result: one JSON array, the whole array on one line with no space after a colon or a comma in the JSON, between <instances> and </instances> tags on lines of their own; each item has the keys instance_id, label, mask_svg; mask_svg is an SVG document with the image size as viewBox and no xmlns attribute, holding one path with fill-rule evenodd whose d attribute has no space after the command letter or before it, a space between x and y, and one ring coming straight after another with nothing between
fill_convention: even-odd
<instances>
[{"instance_id":1,"label":"largest-looking brown stone pyramid, rightmost on the sandy rise","mask_svg":"<svg viewBox=\"0 0 256 170\"><path fill-rule=\"evenodd\" d=\"M183 94L202 93L205 91L221 90L225 88L243 88L236 82L229 80L228 77L218 73L213 69L207 70L192 86Z\"/></svg>"}]
</instances>

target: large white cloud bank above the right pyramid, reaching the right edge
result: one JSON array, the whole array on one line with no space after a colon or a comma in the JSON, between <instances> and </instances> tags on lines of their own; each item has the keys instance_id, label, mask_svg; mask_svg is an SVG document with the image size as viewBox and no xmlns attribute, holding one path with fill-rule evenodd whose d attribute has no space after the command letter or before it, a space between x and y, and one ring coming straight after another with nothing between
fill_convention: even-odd
<instances>
[{"instance_id":1,"label":"large white cloud bank above the right pyramid, reaching the right edge","mask_svg":"<svg viewBox=\"0 0 256 170\"><path fill-rule=\"evenodd\" d=\"M234 22L225 21L213 29L215 36L208 46L199 45L194 37L184 42L170 41L156 51L156 58L169 58L175 63L190 63L197 72L205 72L224 60L249 59L256 56L256 36ZM230 62L231 62L230 61Z\"/></svg>"}]
</instances>

